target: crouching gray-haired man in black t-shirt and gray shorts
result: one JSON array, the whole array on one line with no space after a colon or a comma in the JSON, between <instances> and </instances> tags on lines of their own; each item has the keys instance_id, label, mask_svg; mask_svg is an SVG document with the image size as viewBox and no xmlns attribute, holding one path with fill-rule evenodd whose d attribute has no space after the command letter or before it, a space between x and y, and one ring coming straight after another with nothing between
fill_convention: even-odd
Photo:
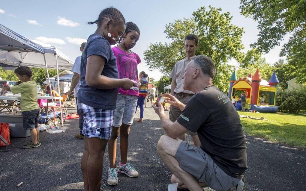
<instances>
[{"instance_id":1,"label":"crouching gray-haired man in black t-shirt and gray shorts","mask_svg":"<svg viewBox=\"0 0 306 191\"><path fill-rule=\"evenodd\" d=\"M194 96L184 105L170 94L162 95L182 112L173 123L160 103L154 107L166 132L157 151L173 173L171 182L179 188L242 191L248 169L245 138L236 108L212 83L215 72L209 57L192 57L185 68L184 89L193 91ZM187 130L197 132L200 147L177 139Z\"/></svg>"}]
</instances>

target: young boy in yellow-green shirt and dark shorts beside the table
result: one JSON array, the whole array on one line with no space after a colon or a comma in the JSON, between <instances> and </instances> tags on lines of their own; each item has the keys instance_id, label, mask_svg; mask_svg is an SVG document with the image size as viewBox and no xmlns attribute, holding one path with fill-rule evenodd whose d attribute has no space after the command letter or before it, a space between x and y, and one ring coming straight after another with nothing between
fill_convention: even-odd
<instances>
[{"instance_id":1,"label":"young boy in yellow-green shirt and dark shorts beside the table","mask_svg":"<svg viewBox=\"0 0 306 191\"><path fill-rule=\"evenodd\" d=\"M36 83L32 80L32 70L29 67L20 66L14 72L22 83L12 87L5 86L5 89L13 94L21 93L20 105L23 128L29 129L32 137L32 141L23 145L23 148L37 148L41 145L41 142L39 141L39 105L37 103Z\"/></svg>"}]
</instances>

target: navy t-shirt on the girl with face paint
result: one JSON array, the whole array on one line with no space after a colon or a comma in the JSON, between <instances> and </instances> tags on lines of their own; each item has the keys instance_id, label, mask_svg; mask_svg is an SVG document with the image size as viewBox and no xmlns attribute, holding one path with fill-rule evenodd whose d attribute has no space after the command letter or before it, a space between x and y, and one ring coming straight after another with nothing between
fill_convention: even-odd
<instances>
[{"instance_id":1,"label":"navy t-shirt on the girl with face paint","mask_svg":"<svg viewBox=\"0 0 306 191\"><path fill-rule=\"evenodd\" d=\"M105 65L101 75L105 75L109 78L119 78L116 57L110 48L110 43L100 35L90 35L81 57L81 85L77 99L81 103L93 108L115 109L118 88L101 90L88 86L85 81L87 58L91 55L100 55L105 59Z\"/></svg>"}]
</instances>

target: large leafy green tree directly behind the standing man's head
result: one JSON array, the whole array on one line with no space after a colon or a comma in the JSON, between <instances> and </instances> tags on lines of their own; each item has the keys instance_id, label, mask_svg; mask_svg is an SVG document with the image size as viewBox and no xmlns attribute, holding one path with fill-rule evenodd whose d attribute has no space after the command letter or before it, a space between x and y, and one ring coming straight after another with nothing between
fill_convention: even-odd
<instances>
[{"instance_id":1,"label":"large leafy green tree directly behind the standing man's head","mask_svg":"<svg viewBox=\"0 0 306 191\"><path fill-rule=\"evenodd\" d=\"M229 12L221 13L222 9L203 6L193 12L190 19L175 20L166 25L166 38L171 43L150 44L144 51L144 60L150 70L158 69L164 74L172 71L175 63L185 55L184 40L188 34L199 37L199 47L196 55L206 55L214 61L217 72L214 84L221 90L228 91L228 79L233 71L233 66L227 64L230 59L241 61L244 48L241 42L243 28L231 24L232 16Z\"/></svg>"}]
</instances>

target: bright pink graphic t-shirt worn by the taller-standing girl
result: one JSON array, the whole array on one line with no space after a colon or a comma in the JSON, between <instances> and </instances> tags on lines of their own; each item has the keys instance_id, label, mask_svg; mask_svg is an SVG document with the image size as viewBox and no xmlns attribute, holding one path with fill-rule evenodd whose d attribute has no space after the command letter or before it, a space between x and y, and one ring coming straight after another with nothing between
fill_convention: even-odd
<instances>
[{"instance_id":1,"label":"bright pink graphic t-shirt worn by the taller-standing girl","mask_svg":"<svg viewBox=\"0 0 306 191\"><path fill-rule=\"evenodd\" d=\"M120 50L117 46L112 48L115 57L117 58L117 67L119 72L119 78L128 78L138 82L138 70L137 65L141 62L140 57L136 53L126 53ZM129 90L119 88L118 93L124 95L135 95L139 97L138 86L133 86Z\"/></svg>"}]
</instances>

